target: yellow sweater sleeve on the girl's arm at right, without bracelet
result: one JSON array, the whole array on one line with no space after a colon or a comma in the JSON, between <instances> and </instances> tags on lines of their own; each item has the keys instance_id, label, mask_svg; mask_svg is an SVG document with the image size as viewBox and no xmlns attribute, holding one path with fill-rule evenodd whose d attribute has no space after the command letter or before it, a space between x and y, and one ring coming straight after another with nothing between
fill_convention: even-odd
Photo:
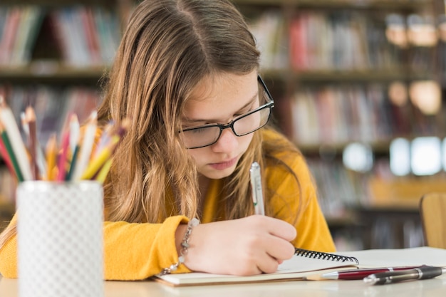
<instances>
[{"instance_id":1,"label":"yellow sweater sleeve on the girl's arm at right, without bracelet","mask_svg":"<svg viewBox=\"0 0 446 297\"><path fill-rule=\"evenodd\" d=\"M304 157L293 152L291 155L296 157L291 159L288 155L284 159L299 182L283 165L276 163L266 167L266 182L271 191L269 208L274 217L296 226L294 246L313 251L336 251Z\"/></svg>"}]
</instances>

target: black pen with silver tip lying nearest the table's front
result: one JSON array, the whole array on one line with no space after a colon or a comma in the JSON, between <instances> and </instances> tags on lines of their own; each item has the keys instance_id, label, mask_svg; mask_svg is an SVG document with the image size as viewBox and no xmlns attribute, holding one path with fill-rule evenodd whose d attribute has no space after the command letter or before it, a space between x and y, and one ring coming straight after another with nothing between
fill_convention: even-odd
<instances>
[{"instance_id":1,"label":"black pen with silver tip lying nearest the table's front","mask_svg":"<svg viewBox=\"0 0 446 297\"><path fill-rule=\"evenodd\" d=\"M384 285L386 283L398 283L399 281L408 281L410 279L435 278L443 273L446 273L446 267L425 265L415 269L373 273L370 276L366 276L364 282L370 283L371 285Z\"/></svg>"}]
</instances>

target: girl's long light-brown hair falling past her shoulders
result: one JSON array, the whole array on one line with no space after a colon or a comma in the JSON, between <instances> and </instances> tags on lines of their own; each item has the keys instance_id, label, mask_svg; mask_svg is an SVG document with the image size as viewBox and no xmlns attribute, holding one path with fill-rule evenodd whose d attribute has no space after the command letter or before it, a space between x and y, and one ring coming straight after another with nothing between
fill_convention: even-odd
<instances>
[{"instance_id":1,"label":"girl's long light-brown hair falling past her shoulders","mask_svg":"<svg viewBox=\"0 0 446 297\"><path fill-rule=\"evenodd\" d=\"M132 120L104 184L106 218L162 222L172 215L166 197L173 197L175 214L197 216L197 170L178 136L182 107L204 77L258 68L254 37L229 1L143 1L130 18L98 110L102 123ZM244 199L247 173L252 160L261 159L260 143L256 133L224 181L227 219L251 210Z\"/></svg>"}]
</instances>

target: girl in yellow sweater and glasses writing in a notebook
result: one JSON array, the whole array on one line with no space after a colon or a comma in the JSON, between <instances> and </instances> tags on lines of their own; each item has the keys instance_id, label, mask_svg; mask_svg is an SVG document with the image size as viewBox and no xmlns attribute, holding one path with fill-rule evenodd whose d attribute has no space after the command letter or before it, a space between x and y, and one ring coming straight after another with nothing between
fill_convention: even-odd
<instances>
[{"instance_id":1,"label":"girl in yellow sweater and glasses writing in a notebook","mask_svg":"<svg viewBox=\"0 0 446 297\"><path fill-rule=\"evenodd\" d=\"M98 109L102 127L131 119L103 185L106 279L270 273L294 246L335 250L304 157L266 125L273 107L229 0L142 1ZM253 215L254 161L266 216ZM16 276L15 224L0 240L5 277Z\"/></svg>"}]
</instances>

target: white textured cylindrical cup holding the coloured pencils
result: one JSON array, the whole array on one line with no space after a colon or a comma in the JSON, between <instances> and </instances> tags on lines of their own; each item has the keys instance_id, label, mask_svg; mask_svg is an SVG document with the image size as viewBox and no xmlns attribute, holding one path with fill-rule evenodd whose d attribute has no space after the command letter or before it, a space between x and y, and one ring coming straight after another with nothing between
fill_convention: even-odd
<instances>
[{"instance_id":1,"label":"white textured cylindrical cup holding the coloured pencils","mask_svg":"<svg viewBox=\"0 0 446 297\"><path fill-rule=\"evenodd\" d=\"M103 296L103 188L98 182L19 184L19 296Z\"/></svg>"}]
</instances>

